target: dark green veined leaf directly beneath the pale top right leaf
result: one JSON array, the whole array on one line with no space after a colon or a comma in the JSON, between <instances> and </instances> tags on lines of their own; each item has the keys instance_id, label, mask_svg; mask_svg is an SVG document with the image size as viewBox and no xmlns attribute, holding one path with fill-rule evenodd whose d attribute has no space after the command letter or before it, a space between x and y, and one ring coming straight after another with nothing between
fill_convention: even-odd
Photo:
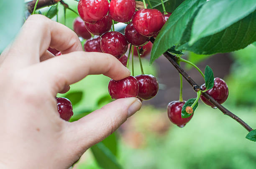
<instances>
[{"instance_id":1,"label":"dark green veined leaf directly beneath the pale top right leaf","mask_svg":"<svg viewBox=\"0 0 256 169\"><path fill-rule=\"evenodd\" d=\"M200 55L232 52L243 49L256 41L256 11L225 30L203 37L189 46L191 27L192 22L190 21L181 42L176 47L177 50L189 50Z\"/></svg>"}]
</instances>

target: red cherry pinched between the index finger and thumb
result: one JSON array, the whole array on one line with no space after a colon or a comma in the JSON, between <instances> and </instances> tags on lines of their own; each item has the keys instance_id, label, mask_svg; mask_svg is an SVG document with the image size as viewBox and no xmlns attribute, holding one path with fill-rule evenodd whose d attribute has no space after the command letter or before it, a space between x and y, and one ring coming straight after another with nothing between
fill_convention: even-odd
<instances>
[{"instance_id":1,"label":"red cherry pinched between the index finger and thumb","mask_svg":"<svg viewBox=\"0 0 256 169\"><path fill-rule=\"evenodd\" d=\"M133 76L118 81L111 79L108 84L108 92L112 99L137 97L138 80Z\"/></svg>"}]
</instances>

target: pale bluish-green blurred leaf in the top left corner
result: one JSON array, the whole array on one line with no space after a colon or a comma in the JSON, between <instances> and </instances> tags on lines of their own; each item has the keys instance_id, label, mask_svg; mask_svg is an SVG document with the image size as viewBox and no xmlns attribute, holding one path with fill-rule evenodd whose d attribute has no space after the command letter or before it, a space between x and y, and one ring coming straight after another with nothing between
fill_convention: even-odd
<instances>
[{"instance_id":1,"label":"pale bluish-green blurred leaf in the top left corner","mask_svg":"<svg viewBox=\"0 0 256 169\"><path fill-rule=\"evenodd\" d=\"M23 0L0 0L0 53L17 35L23 19Z\"/></svg>"}]
</instances>

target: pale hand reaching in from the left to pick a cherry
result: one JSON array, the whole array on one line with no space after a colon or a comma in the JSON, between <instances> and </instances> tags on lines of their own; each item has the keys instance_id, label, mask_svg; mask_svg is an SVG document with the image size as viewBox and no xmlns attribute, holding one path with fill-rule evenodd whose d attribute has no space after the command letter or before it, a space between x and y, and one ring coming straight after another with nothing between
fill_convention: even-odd
<instances>
[{"instance_id":1,"label":"pale hand reaching in from the left to pick a cherry","mask_svg":"<svg viewBox=\"0 0 256 169\"><path fill-rule=\"evenodd\" d=\"M49 46L63 55L54 57ZM95 74L121 80L130 71L112 55L83 52L66 26L42 15L29 17L0 55L0 168L68 169L141 108L130 97L76 122L62 120L56 94Z\"/></svg>"}]
</instances>

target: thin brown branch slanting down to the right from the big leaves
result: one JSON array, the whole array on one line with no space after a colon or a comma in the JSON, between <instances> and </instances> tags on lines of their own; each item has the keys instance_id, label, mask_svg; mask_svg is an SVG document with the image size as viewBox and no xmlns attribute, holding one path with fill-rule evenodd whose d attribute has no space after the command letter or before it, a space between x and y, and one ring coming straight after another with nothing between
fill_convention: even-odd
<instances>
[{"instance_id":1,"label":"thin brown branch slanting down to the right from the big leaves","mask_svg":"<svg viewBox=\"0 0 256 169\"><path fill-rule=\"evenodd\" d=\"M152 43L154 43L154 38L151 37L150 41ZM198 90L202 90L200 88L199 85L197 85L197 83L189 76L187 75L187 73L182 69L182 67L179 66L179 64L176 62L177 61L177 57L170 54L169 52L164 52L164 56L169 60L169 62L172 63L172 65L178 70L178 72L185 78L185 80L187 80L187 82L193 87L194 91L197 92ZM237 117L235 114L233 114L232 112L230 112L228 109L226 109L225 107L223 107L221 104L219 104L215 99L213 99L210 94L208 94L207 92L203 92L202 95L208 99L212 104L214 104L216 107L218 107L218 109L220 109L221 112L223 112L223 114L228 115L229 117L231 117L232 119L236 120L239 124L241 124L244 128L246 128L248 130L248 132L252 131L253 129L246 124L246 122L244 122L242 119L240 119L239 117Z\"/></svg>"}]
</instances>

